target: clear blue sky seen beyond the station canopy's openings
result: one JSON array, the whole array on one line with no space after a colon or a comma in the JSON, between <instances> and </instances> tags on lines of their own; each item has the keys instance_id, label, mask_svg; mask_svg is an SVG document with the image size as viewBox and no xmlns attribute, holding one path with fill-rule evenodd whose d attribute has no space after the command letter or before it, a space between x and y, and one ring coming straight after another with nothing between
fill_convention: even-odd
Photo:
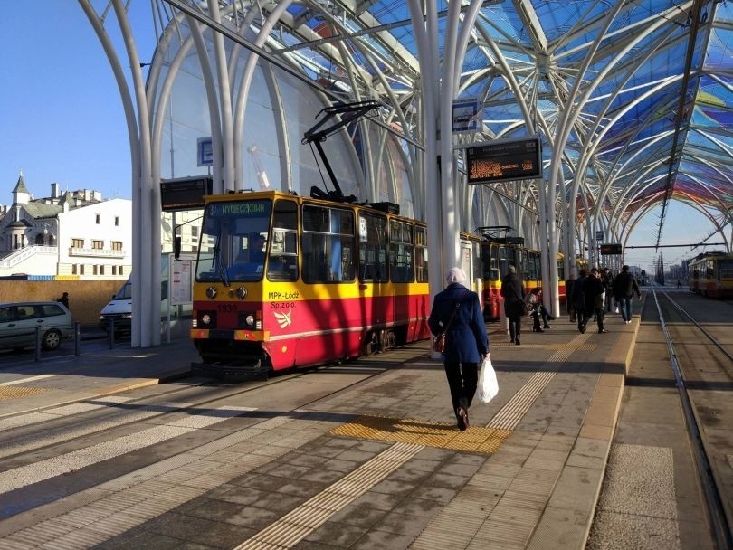
<instances>
[{"instance_id":1,"label":"clear blue sky seen beyond the station canopy's openings","mask_svg":"<svg viewBox=\"0 0 733 550\"><path fill-rule=\"evenodd\" d=\"M131 6L140 59L146 61L154 47L150 3L133 0ZM4 2L3 20L0 204L11 204L21 170L35 196L47 196L56 182L62 190L94 189L103 198L130 198L129 139L119 90L80 5L74 0ZM117 24L109 23L113 34ZM654 244L657 220L658 211L648 214L628 244ZM662 243L696 242L710 229L689 206L671 203ZM650 270L660 251L629 249L625 261ZM693 254L686 248L662 253L665 263Z\"/></svg>"}]
</instances>

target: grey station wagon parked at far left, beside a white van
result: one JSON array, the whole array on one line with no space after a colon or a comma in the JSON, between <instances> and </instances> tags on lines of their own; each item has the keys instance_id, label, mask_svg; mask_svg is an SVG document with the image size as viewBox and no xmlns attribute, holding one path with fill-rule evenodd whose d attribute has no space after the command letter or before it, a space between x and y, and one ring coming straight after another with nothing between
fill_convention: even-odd
<instances>
[{"instance_id":1,"label":"grey station wagon parked at far left, beside a white van","mask_svg":"<svg viewBox=\"0 0 733 550\"><path fill-rule=\"evenodd\" d=\"M35 346L35 327L41 327L43 349L56 349L71 338L71 313L59 302L0 303L0 347Z\"/></svg>"}]
</instances>

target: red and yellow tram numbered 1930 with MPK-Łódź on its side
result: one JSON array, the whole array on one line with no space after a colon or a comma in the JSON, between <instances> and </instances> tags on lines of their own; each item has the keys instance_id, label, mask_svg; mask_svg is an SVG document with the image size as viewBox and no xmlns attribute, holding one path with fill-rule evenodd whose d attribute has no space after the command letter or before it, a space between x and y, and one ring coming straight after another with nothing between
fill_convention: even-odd
<instances>
[{"instance_id":1,"label":"red and yellow tram numbered 1930 with MPK-\u0141\u00f3d\u017a on its side","mask_svg":"<svg viewBox=\"0 0 733 550\"><path fill-rule=\"evenodd\" d=\"M426 226L395 210L205 197L191 329L203 363L280 370L429 337Z\"/></svg>"}]
</instances>

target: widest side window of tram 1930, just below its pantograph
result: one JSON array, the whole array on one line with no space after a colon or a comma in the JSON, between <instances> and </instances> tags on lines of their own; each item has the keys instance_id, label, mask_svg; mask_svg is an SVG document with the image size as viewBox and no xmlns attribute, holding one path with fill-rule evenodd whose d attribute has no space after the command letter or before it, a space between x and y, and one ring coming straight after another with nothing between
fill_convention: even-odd
<instances>
[{"instance_id":1,"label":"widest side window of tram 1930, just below its pantograph","mask_svg":"<svg viewBox=\"0 0 733 550\"><path fill-rule=\"evenodd\" d=\"M309 283L354 280L354 213L303 206L302 278ZM348 230L351 232L347 232ZM336 230L335 232L332 230ZM343 233L339 233L342 232Z\"/></svg>"}]
</instances>

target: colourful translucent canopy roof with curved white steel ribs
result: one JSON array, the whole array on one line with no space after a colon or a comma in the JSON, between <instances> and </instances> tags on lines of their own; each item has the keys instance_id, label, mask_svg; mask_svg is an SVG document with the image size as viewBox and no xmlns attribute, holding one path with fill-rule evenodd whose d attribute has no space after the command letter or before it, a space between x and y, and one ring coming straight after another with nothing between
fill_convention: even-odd
<instances>
[{"instance_id":1,"label":"colourful translucent canopy roof with curved white steel ribs","mask_svg":"<svg viewBox=\"0 0 733 550\"><path fill-rule=\"evenodd\" d=\"M331 97L383 101L396 111L392 126L419 142L419 98L429 83L410 5L426 4L285 3L265 49ZM206 3L187 5L205 13ZM259 32L282 3L219 5L233 28ZM462 2L462 16L471 5ZM441 55L450 9L434 3ZM471 140L522 137L533 125L546 162L564 143L557 192L568 199L575 189L589 207L627 222L662 205L660 232L667 204L679 200L724 226L733 209L732 23L727 2L482 2L457 96L481 106ZM565 140L558 128L570 128Z\"/></svg>"}]
</instances>

